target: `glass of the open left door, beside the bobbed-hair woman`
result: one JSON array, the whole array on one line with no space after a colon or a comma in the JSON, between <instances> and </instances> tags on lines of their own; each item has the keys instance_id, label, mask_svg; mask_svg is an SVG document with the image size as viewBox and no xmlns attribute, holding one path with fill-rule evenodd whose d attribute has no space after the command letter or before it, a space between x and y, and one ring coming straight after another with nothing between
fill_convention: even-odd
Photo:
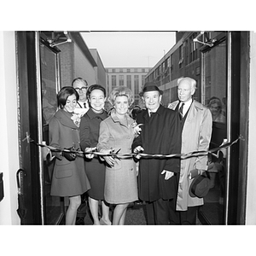
<instances>
[{"instance_id":1,"label":"glass of the open left door, beside the bobbed-hair woman","mask_svg":"<svg viewBox=\"0 0 256 256\"><path fill-rule=\"evenodd\" d=\"M49 119L57 110L56 93L59 85L58 54L40 42L42 129L43 141L49 145ZM63 200L50 195L51 177L55 160L44 160L43 198L44 224L59 224L64 214Z\"/></svg>"}]
</instances>

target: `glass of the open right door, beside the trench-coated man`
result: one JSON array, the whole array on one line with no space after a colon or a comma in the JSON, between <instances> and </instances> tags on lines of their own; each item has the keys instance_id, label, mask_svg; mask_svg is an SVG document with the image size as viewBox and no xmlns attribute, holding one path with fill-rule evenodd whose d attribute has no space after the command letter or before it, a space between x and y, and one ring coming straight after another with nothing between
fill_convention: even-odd
<instances>
[{"instance_id":1,"label":"glass of the open right door, beside the trench-coated man","mask_svg":"<svg viewBox=\"0 0 256 256\"><path fill-rule=\"evenodd\" d=\"M227 60L226 40L202 53L202 102L212 113L212 139L210 148L217 148L227 137L226 97ZM218 154L217 154L218 153ZM199 217L207 224L224 224L224 198L226 177L225 151L208 157L211 189L204 197Z\"/></svg>"}]
</instances>

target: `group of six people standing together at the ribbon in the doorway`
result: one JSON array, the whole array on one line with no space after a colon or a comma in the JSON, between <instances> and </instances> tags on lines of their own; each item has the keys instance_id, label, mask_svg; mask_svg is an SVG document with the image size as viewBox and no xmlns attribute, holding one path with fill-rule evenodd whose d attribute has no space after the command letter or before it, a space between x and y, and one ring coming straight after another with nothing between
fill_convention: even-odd
<instances>
[{"instance_id":1,"label":"group of six people standing together at the ribbon in the doorway","mask_svg":"<svg viewBox=\"0 0 256 256\"><path fill-rule=\"evenodd\" d=\"M189 194L189 174L207 170L207 155L150 157L208 149L212 114L193 99L195 89L194 79L179 79L178 101L166 108L157 84L144 84L140 96L146 108L136 119L129 110L133 95L125 86L110 92L110 113L104 110L102 85L88 87L84 79L75 79L60 90L59 110L49 121L49 145L64 150L53 152L51 195L69 197L66 224L75 224L86 191L94 224L125 224L127 207L137 200L145 202L147 224L195 224L203 199Z\"/></svg>"}]
</instances>

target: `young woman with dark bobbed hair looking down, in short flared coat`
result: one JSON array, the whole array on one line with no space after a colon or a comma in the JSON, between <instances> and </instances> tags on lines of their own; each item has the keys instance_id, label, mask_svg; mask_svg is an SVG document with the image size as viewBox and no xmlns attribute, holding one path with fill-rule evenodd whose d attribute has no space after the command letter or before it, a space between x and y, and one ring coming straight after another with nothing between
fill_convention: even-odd
<instances>
[{"instance_id":1,"label":"young woman with dark bobbed hair looking down, in short flared coat","mask_svg":"<svg viewBox=\"0 0 256 256\"><path fill-rule=\"evenodd\" d=\"M79 94L71 86L63 87L57 95L60 108L49 121L49 146L80 150L79 119L73 110ZM84 158L67 151L55 152L55 166L50 195L68 196L66 224L75 224L80 195L90 189L84 172Z\"/></svg>"}]
</instances>

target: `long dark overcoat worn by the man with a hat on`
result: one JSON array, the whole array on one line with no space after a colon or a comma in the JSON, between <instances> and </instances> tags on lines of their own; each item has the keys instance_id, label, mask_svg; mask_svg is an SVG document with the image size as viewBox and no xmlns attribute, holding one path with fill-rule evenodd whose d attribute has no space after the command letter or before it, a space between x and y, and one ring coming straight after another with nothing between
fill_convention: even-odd
<instances>
[{"instance_id":1,"label":"long dark overcoat worn by the man with a hat on","mask_svg":"<svg viewBox=\"0 0 256 256\"><path fill-rule=\"evenodd\" d=\"M151 117L148 110L137 114L137 124L143 124L139 137L135 138L132 149L144 148L145 154L179 154L180 129L176 112L162 105ZM139 160L138 189L142 201L172 199L177 194L177 174L168 180L163 170L179 172L179 157L141 158Z\"/></svg>"}]
</instances>

